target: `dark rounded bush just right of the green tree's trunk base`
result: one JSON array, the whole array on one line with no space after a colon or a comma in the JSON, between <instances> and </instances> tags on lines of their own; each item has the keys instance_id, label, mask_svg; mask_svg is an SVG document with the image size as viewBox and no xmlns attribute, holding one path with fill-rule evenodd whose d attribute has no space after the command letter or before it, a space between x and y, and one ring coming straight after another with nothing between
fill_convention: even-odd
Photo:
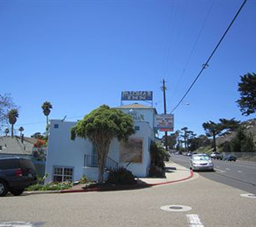
<instances>
[{"instance_id":1,"label":"dark rounded bush just right of the green tree's trunk base","mask_svg":"<svg viewBox=\"0 0 256 227\"><path fill-rule=\"evenodd\" d=\"M107 183L114 185L135 185L136 180L132 172L124 167L110 169Z\"/></svg>"}]
</instances>

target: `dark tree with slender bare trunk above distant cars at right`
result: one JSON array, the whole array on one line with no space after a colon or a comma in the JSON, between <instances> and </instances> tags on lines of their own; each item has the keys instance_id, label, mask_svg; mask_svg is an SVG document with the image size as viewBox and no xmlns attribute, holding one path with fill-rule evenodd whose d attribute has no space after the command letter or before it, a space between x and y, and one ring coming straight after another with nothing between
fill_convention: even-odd
<instances>
[{"instance_id":1,"label":"dark tree with slender bare trunk above distant cars at right","mask_svg":"<svg viewBox=\"0 0 256 227\"><path fill-rule=\"evenodd\" d=\"M203 128L207 137L213 139L213 151L216 151L216 136L219 136L223 131L223 125L221 123L215 123L209 120L209 122L203 123Z\"/></svg>"}]
</instances>

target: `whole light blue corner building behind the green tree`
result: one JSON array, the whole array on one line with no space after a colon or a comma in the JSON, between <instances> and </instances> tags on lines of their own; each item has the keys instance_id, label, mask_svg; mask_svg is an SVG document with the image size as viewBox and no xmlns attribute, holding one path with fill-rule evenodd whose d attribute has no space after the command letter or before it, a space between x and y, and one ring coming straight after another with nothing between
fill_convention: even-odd
<instances>
[{"instance_id":1,"label":"whole light blue corner building behind the green tree","mask_svg":"<svg viewBox=\"0 0 256 227\"><path fill-rule=\"evenodd\" d=\"M135 134L127 143L113 139L109 147L106 167L126 167L138 177L146 177L150 168L150 143L155 140L155 108L141 104L123 105L116 109L134 118ZM71 127L76 122L51 120L46 156L46 181L77 181L84 174L98 179L98 158L87 139L71 140ZM105 174L105 177L107 174Z\"/></svg>"}]
</instances>

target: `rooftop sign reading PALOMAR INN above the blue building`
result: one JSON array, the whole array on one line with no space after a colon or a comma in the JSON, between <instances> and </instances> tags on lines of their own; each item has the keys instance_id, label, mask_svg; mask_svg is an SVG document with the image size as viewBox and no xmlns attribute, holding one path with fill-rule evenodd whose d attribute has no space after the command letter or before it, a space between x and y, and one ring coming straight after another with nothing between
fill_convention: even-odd
<instances>
[{"instance_id":1,"label":"rooftop sign reading PALOMAR INN above the blue building","mask_svg":"<svg viewBox=\"0 0 256 227\"><path fill-rule=\"evenodd\" d=\"M122 101L153 101L153 91L122 91Z\"/></svg>"}]
</instances>

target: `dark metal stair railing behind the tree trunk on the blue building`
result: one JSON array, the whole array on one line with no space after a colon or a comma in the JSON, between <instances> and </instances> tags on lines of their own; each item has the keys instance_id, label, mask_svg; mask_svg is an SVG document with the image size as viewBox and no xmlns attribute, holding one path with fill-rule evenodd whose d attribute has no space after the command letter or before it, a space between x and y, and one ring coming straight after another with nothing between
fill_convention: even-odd
<instances>
[{"instance_id":1,"label":"dark metal stair railing behind the tree trunk on the blue building","mask_svg":"<svg viewBox=\"0 0 256 227\"><path fill-rule=\"evenodd\" d=\"M98 167L98 155L88 155L85 154L84 159L84 166L85 167ZM105 163L106 169L117 169L118 168L118 162L113 160L112 158L107 157L106 163Z\"/></svg>"}]
</instances>

